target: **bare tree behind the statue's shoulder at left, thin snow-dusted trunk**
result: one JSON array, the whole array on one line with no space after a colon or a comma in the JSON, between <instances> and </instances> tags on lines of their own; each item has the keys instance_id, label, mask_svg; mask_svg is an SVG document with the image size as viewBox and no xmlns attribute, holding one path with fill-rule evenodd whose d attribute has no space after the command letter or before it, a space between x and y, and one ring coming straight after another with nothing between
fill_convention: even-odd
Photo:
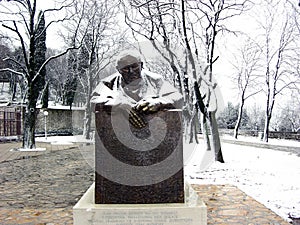
<instances>
[{"instance_id":1,"label":"bare tree behind the statue's shoulder at left, thin snow-dusted trunk","mask_svg":"<svg viewBox=\"0 0 300 225\"><path fill-rule=\"evenodd\" d=\"M104 69L111 63L113 56L122 43L122 33L116 25L116 15L118 13L116 1L83 1L80 11L82 26L78 27L78 35L83 38L83 44L76 55L77 94L84 96L83 135L86 139L89 139L92 118L90 105L92 91L99 79L103 78Z\"/></svg>"}]
</instances>

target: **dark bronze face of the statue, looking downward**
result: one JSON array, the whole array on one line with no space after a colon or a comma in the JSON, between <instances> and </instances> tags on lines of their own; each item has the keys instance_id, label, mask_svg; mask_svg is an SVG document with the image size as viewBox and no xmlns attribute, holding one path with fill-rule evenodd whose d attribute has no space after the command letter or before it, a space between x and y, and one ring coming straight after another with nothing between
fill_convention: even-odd
<instances>
[{"instance_id":1,"label":"dark bronze face of the statue, looking downward","mask_svg":"<svg viewBox=\"0 0 300 225\"><path fill-rule=\"evenodd\" d=\"M124 82L126 84L130 84L131 82L141 78L141 69L141 63L133 63L121 69L118 69L118 71L122 75Z\"/></svg>"}]
</instances>

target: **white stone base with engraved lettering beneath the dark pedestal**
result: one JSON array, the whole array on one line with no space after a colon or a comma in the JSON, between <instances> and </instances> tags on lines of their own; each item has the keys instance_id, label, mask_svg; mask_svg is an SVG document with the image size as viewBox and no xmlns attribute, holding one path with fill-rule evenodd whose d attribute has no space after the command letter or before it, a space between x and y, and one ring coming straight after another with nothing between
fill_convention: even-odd
<instances>
[{"instance_id":1,"label":"white stone base with engraved lettering beneath the dark pedestal","mask_svg":"<svg viewBox=\"0 0 300 225\"><path fill-rule=\"evenodd\" d=\"M187 187L186 203L94 204L94 184L73 208L74 225L206 225L207 209Z\"/></svg>"}]
</instances>

